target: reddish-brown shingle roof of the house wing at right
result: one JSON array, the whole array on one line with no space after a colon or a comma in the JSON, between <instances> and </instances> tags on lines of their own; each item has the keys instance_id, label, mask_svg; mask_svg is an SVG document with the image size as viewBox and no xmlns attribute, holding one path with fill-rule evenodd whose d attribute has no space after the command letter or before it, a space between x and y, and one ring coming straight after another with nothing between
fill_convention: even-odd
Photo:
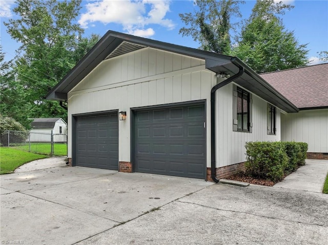
<instances>
[{"instance_id":1,"label":"reddish-brown shingle roof of the house wing at right","mask_svg":"<svg viewBox=\"0 0 328 245\"><path fill-rule=\"evenodd\" d=\"M328 108L328 63L260 76L299 109Z\"/></svg>"}]
</instances>

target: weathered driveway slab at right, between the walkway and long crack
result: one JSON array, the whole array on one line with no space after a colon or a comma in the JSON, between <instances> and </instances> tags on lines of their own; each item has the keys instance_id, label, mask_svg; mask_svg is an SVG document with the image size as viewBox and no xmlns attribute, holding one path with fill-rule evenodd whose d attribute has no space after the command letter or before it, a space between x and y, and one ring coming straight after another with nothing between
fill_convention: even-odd
<instances>
[{"instance_id":1,"label":"weathered driveway slab at right, between the walkway and long crack","mask_svg":"<svg viewBox=\"0 0 328 245\"><path fill-rule=\"evenodd\" d=\"M328 227L328 195L250 185L213 185L179 199L220 210Z\"/></svg>"}]
</instances>

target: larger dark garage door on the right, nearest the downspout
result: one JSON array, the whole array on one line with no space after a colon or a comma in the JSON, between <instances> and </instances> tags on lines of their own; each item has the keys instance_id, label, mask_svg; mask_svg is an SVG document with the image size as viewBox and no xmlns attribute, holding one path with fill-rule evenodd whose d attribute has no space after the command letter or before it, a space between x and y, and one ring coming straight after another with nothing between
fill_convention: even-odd
<instances>
[{"instance_id":1,"label":"larger dark garage door on the right, nearest the downspout","mask_svg":"<svg viewBox=\"0 0 328 245\"><path fill-rule=\"evenodd\" d=\"M137 110L136 171L204 179L204 104Z\"/></svg>"}]
</instances>

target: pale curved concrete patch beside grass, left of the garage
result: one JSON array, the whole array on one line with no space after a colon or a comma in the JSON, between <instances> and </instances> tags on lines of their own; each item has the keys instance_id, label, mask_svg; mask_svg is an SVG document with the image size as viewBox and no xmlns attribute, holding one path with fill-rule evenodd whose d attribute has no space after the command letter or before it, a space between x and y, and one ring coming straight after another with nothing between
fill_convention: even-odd
<instances>
[{"instance_id":1,"label":"pale curved concrete patch beside grass, left of the garage","mask_svg":"<svg viewBox=\"0 0 328 245\"><path fill-rule=\"evenodd\" d=\"M22 173L47 168L65 167L65 159L66 157L35 160L16 168L14 172Z\"/></svg>"}]
</instances>

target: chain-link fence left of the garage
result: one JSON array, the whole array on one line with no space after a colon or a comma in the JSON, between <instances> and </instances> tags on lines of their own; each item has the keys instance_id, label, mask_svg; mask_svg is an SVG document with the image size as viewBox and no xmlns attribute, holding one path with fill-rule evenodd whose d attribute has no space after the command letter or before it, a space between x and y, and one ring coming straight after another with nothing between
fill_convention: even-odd
<instances>
[{"instance_id":1,"label":"chain-link fence left of the garage","mask_svg":"<svg viewBox=\"0 0 328 245\"><path fill-rule=\"evenodd\" d=\"M67 155L67 135L64 134L13 130L3 130L0 134L1 146L51 156Z\"/></svg>"}]
</instances>

